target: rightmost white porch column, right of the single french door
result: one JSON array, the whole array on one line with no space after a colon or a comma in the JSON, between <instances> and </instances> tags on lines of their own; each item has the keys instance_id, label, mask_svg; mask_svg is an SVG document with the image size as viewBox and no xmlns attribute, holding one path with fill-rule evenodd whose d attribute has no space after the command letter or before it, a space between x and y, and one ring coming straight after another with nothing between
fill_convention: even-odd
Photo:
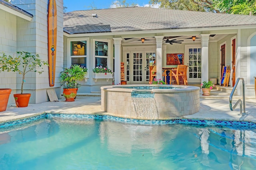
<instances>
[{"instance_id":1,"label":"rightmost white porch column, right of the single french door","mask_svg":"<svg viewBox=\"0 0 256 170\"><path fill-rule=\"evenodd\" d=\"M201 34L202 45L202 78L201 82L209 80L209 36L210 34Z\"/></svg>"}]
</instances>

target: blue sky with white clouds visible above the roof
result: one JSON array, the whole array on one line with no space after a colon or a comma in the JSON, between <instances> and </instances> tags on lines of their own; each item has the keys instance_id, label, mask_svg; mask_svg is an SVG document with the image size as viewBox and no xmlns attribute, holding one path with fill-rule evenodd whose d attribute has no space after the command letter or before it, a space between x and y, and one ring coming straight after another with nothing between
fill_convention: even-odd
<instances>
[{"instance_id":1,"label":"blue sky with white clouds visible above the roof","mask_svg":"<svg viewBox=\"0 0 256 170\"><path fill-rule=\"evenodd\" d=\"M126 0L128 4L138 4L138 6L148 6L150 0ZM78 10L107 9L114 8L111 6L114 0L63 0L64 6L68 7L66 12Z\"/></svg>"}]
</instances>

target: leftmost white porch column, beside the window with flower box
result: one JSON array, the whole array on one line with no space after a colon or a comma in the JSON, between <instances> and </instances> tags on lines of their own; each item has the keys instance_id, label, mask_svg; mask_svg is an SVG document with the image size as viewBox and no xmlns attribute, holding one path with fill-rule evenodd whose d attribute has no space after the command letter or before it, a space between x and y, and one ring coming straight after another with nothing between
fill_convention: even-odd
<instances>
[{"instance_id":1,"label":"leftmost white porch column, beside the window with flower box","mask_svg":"<svg viewBox=\"0 0 256 170\"><path fill-rule=\"evenodd\" d=\"M115 74L114 74L114 84L121 83L121 41L122 38L113 38L115 45Z\"/></svg>"}]
</instances>

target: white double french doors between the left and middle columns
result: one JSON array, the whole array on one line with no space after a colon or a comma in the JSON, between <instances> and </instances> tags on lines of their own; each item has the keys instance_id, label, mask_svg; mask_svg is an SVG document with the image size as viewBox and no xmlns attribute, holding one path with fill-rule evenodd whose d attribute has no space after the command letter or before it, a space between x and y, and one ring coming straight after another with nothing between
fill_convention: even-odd
<instances>
[{"instance_id":1,"label":"white double french doors between the left and middle columns","mask_svg":"<svg viewBox=\"0 0 256 170\"><path fill-rule=\"evenodd\" d=\"M126 81L128 84L148 84L149 67L156 62L153 51L126 52Z\"/></svg>"}]
</instances>

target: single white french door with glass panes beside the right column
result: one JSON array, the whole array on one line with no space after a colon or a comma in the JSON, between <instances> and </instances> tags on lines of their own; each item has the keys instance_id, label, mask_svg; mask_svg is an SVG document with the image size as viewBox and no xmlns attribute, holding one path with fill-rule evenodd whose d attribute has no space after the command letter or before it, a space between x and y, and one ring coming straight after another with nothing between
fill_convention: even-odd
<instances>
[{"instance_id":1,"label":"single white french door with glass panes beside the right column","mask_svg":"<svg viewBox=\"0 0 256 170\"><path fill-rule=\"evenodd\" d=\"M201 83L202 77L202 54L200 45L187 45L185 60L188 65L187 78L188 83Z\"/></svg>"}]
</instances>

